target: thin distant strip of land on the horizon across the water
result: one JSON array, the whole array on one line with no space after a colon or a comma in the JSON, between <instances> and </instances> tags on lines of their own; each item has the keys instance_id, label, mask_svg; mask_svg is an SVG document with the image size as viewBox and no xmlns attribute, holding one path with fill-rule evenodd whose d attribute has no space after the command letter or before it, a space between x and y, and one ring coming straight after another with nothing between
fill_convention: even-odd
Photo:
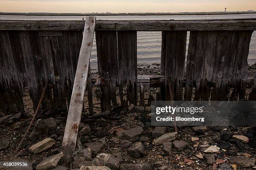
<instances>
[{"instance_id":1,"label":"thin distant strip of land on the horizon across the water","mask_svg":"<svg viewBox=\"0 0 256 170\"><path fill-rule=\"evenodd\" d=\"M199 13L1 13L0 15L28 15L28 16L129 16L129 15L233 15L255 14L255 12L199 12Z\"/></svg>"}]
</instances>

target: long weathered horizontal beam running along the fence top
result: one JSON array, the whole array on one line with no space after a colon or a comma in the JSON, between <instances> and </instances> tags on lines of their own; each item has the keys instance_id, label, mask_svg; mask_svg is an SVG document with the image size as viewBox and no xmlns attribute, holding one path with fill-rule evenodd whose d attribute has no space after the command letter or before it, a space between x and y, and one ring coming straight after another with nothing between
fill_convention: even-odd
<instances>
[{"instance_id":1,"label":"long weathered horizontal beam running along the fence top","mask_svg":"<svg viewBox=\"0 0 256 170\"><path fill-rule=\"evenodd\" d=\"M83 31L84 20L0 20L0 30ZM100 30L256 30L256 18L239 20L97 20Z\"/></svg>"}]
</instances>

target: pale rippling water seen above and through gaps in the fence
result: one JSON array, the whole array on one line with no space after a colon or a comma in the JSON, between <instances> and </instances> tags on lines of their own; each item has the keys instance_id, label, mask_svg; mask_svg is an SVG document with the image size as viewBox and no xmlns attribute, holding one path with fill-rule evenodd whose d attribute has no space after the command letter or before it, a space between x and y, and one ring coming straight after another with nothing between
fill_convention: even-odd
<instances>
[{"instance_id":1,"label":"pale rippling water seen above and through gaps in the fence","mask_svg":"<svg viewBox=\"0 0 256 170\"><path fill-rule=\"evenodd\" d=\"M85 16L23 16L0 15L2 20L82 20ZM163 16L97 16L97 20L216 20L216 19L242 19L256 18L256 14L239 15L163 15ZM189 32L187 34L187 47ZM97 68L97 51L95 37L92 45L91 67ZM161 59L161 31L137 33L138 65L160 63ZM187 52L186 52L187 54ZM248 64L256 62L256 33L253 32L248 55Z\"/></svg>"}]
</instances>

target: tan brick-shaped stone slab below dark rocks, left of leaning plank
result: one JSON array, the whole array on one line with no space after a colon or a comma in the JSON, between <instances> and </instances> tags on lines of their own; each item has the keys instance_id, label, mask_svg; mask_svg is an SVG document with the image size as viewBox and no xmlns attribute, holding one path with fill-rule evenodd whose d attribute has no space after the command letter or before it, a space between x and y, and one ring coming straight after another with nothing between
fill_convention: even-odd
<instances>
[{"instance_id":1,"label":"tan brick-shaped stone slab below dark rocks, left of leaning plank","mask_svg":"<svg viewBox=\"0 0 256 170\"><path fill-rule=\"evenodd\" d=\"M35 145L32 145L28 150L33 154L37 154L46 149L51 148L54 144L55 144L55 140L53 140L51 138L46 138L46 139L36 143Z\"/></svg>"}]
</instances>

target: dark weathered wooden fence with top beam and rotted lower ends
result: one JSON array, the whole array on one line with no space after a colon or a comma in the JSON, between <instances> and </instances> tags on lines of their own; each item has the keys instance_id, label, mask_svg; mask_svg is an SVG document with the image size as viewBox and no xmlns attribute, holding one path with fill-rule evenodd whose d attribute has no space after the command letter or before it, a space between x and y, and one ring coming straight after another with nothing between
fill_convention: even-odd
<instances>
[{"instance_id":1,"label":"dark weathered wooden fence with top beam and rotted lower ends","mask_svg":"<svg viewBox=\"0 0 256 170\"><path fill-rule=\"evenodd\" d=\"M0 20L2 110L24 109L24 87L28 87L36 107L46 80L51 84L42 106L67 109L84 22ZM174 100L243 99L253 30L256 30L256 19L97 20L95 35L102 111L118 105L116 87L120 89L121 105L137 105L140 80L144 85L161 87L164 100L169 99L166 95L169 94L168 79L172 83ZM162 31L161 76L137 75L137 31ZM185 63L187 31L190 31L190 38ZM230 86L232 95L229 95ZM127 100L124 100L122 89L126 87ZM88 90L91 101L92 89Z\"/></svg>"}]
</instances>

